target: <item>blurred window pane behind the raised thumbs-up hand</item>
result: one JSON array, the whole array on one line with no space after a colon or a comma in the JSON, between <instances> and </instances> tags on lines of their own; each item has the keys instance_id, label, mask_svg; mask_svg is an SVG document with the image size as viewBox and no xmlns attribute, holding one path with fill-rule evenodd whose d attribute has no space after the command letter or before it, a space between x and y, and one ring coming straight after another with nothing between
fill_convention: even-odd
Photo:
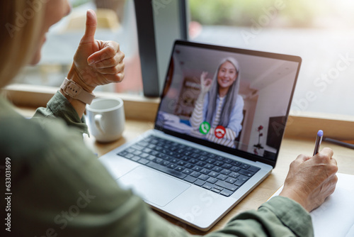
<instances>
[{"instance_id":1,"label":"blurred window pane behind the raised thumbs-up hand","mask_svg":"<svg viewBox=\"0 0 354 237\"><path fill-rule=\"evenodd\" d=\"M36 66L25 67L13 83L59 87L72 66L72 58L84 34L86 10L98 17L95 38L115 40L125 53L125 80L97 87L100 92L142 94L135 6L132 0L71 0L72 13L50 28L42 58Z\"/></svg>"}]
</instances>

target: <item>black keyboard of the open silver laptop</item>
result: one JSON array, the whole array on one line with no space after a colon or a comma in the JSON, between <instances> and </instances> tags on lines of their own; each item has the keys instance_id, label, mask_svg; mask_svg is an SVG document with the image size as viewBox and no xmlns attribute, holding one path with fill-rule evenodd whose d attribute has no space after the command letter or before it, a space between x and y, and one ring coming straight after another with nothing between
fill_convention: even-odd
<instances>
[{"instance_id":1,"label":"black keyboard of the open silver laptop","mask_svg":"<svg viewBox=\"0 0 354 237\"><path fill-rule=\"evenodd\" d=\"M148 136L117 155L226 197L260 170L259 167L156 136Z\"/></svg>"}]
</instances>

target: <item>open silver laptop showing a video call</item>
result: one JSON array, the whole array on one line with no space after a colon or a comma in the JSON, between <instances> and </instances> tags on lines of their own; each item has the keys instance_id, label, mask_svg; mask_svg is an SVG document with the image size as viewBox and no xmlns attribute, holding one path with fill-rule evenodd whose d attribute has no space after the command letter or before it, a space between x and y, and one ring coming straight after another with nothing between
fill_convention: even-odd
<instances>
[{"instance_id":1,"label":"open silver laptop showing a video call","mask_svg":"<svg viewBox=\"0 0 354 237\"><path fill-rule=\"evenodd\" d=\"M300 65L293 55L176 40L154 129L99 160L153 209L207 231L275 167Z\"/></svg>"}]
</instances>

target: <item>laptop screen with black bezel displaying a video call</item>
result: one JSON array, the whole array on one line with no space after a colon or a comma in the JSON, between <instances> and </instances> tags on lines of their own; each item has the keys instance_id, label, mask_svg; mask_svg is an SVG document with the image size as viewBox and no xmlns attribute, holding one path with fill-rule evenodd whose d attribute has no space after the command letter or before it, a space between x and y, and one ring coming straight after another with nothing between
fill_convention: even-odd
<instances>
[{"instance_id":1,"label":"laptop screen with black bezel displaying a video call","mask_svg":"<svg viewBox=\"0 0 354 237\"><path fill-rule=\"evenodd\" d=\"M275 166L301 58L176 41L155 128Z\"/></svg>"}]
</instances>

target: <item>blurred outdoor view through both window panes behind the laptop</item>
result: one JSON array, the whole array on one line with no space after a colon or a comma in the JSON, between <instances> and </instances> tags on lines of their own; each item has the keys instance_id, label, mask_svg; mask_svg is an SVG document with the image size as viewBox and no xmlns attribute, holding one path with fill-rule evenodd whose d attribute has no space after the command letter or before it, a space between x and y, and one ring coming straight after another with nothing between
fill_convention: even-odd
<instances>
[{"instance_id":1,"label":"blurred outdoor view through both window panes behind the laptop","mask_svg":"<svg viewBox=\"0 0 354 237\"><path fill-rule=\"evenodd\" d=\"M97 90L142 95L134 1L70 1L72 13L47 34L40 64L26 67L14 83L59 87L84 33L86 10L94 9L98 15L96 38L118 41L126 65L122 83ZM166 5L168 2L164 1ZM292 102L295 113L354 116L354 1L188 0L186 3L189 40L302 57Z\"/></svg>"}]
</instances>

